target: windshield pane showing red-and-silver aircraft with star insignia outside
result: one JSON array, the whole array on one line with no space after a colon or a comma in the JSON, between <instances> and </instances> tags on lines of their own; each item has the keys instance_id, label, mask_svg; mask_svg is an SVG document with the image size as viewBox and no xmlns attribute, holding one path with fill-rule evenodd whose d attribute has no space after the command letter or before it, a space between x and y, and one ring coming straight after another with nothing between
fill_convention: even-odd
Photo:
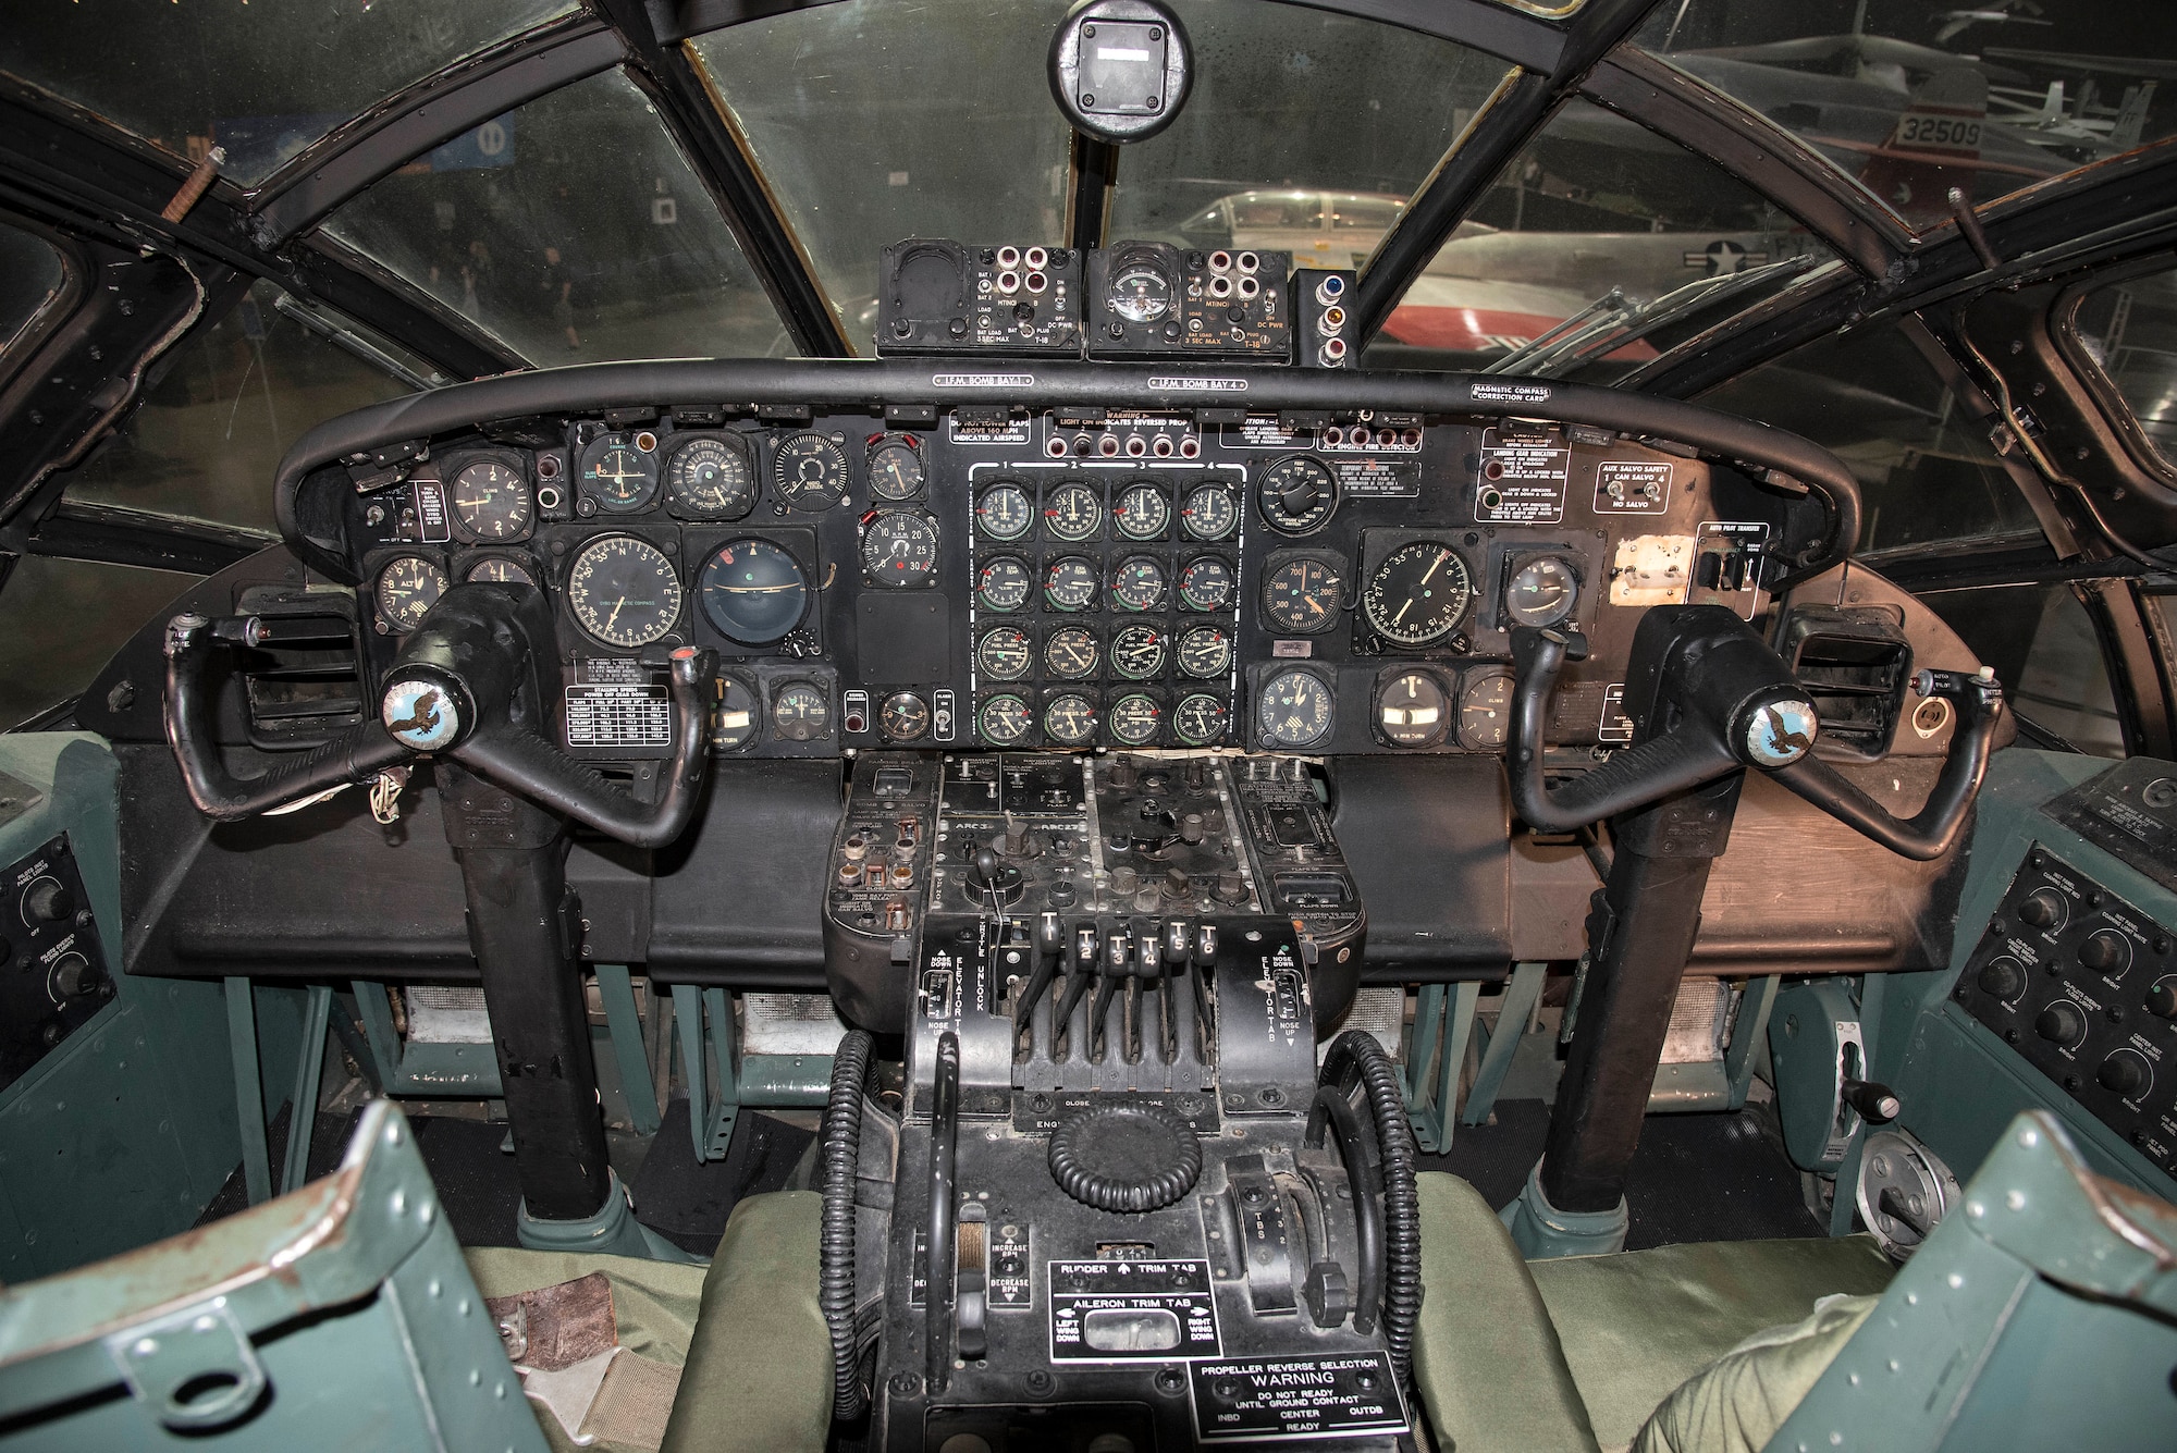
<instances>
[{"instance_id":1,"label":"windshield pane showing red-and-silver aircraft with star insignia outside","mask_svg":"<svg viewBox=\"0 0 2177 1453\"><path fill-rule=\"evenodd\" d=\"M1622 372L1696 315L1713 324L1718 307L1750 307L1829 257L1713 161L1574 100L1437 250L1382 337L1446 368L1565 374L1596 359Z\"/></svg>"}]
</instances>

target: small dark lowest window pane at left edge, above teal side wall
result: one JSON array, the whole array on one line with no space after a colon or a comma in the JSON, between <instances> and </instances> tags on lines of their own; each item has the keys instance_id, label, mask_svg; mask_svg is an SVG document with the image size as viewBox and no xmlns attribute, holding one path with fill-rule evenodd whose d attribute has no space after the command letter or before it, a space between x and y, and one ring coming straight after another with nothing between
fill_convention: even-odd
<instances>
[{"instance_id":1,"label":"small dark lowest window pane at left edge, above teal side wall","mask_svg":"<svg viewBox=\"0 0 2177 1453\"><path fill-rule=\"evenodd\" d=\"M0 731L91 683L196 576L26 555L0 585Z\"/></svg>"}]
</instances>

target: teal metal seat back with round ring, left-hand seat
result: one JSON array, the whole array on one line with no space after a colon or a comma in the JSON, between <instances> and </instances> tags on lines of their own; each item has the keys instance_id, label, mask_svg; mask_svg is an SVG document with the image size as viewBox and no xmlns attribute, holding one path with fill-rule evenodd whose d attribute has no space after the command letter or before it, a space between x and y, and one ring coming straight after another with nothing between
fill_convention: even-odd
<instances>
[{"instance_id":1,"label":"teal metal seat back with round ring, left-hand seat","mask_svg":"<svg viewBox=\"0 0 2177 1453\"><path fill-rule=\"evenodd\" d=\"M294 1194L0 1290L0 1451L168 1446L544 1453L390 1101Z\"/></svg>"}]
</instances>

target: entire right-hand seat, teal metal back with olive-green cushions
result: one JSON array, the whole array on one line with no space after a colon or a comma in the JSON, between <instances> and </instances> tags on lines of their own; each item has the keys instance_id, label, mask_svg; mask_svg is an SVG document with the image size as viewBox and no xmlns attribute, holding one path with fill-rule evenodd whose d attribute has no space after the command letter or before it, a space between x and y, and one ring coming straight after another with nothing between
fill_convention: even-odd
<instances>
[{"instance_id":1,"label":"entire right-hand seat, teal metal back with olive-green cushions","mask_svg":"<svg viewBox=\"0 0 2177 1453\"><path fill-rule=\"evenodd\" d=\"M1422 1177L1415 1383L1459 1453L2177 1446L2177 1207L2020 1116L1892 1277L1866 1238L1524 1262Z\"/></svg>"}]
</instances>

